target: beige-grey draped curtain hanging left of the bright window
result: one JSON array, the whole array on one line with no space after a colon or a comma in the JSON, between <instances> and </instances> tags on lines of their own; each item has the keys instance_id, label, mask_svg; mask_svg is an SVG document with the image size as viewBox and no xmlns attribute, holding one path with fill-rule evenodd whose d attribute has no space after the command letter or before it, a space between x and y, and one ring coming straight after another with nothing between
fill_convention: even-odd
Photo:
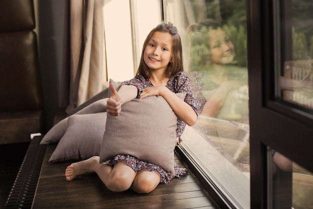
<instances>
[{"instance_id":1,"label":"beige-grey draped curtain hanging left of the bright window","mask_svg":"<svg viewBox=\"0 0 313 209\"><path fill-rule=\"evenodd\" d=\"M102 89L104 0L70 0L70 81L66 112Z\"/></svg>"}]
</instances>

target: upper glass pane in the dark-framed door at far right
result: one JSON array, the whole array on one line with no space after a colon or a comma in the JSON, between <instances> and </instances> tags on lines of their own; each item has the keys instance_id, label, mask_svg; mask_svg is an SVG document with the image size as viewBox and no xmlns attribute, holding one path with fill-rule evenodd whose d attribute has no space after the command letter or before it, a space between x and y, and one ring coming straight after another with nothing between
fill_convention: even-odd
<instances>
[{"instance_id":1,"label":"upper glass pane in the dark-framed door at far right","mask_svg":"<svg viewBox=\"0 0 313 209\"><path fill-rule=\"evenodd\" d=\"M282 98L299 110L313 113L313 18L308 1L275 2L274 19L276 74L279 75L276 98Z\"/></svg>"}]
</instances>

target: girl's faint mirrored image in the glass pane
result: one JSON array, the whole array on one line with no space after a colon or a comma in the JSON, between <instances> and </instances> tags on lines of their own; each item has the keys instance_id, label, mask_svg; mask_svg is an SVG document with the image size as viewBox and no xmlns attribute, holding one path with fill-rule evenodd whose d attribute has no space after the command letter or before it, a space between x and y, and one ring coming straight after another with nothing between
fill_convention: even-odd
<instances>
[{"instance_id":1,"label":"girl's faint mirrored image in the glass pane","mask_svg":"<svg viewBox=\"0 0 313 209\"><path fill-rule=\"evenodd\" d=\"M228 92L241 87L247 96L247 73L229 67L234 46L219 23L204 19L188 27L189 71L201 115L216 117Z\"/></svg>"}]
</instances>

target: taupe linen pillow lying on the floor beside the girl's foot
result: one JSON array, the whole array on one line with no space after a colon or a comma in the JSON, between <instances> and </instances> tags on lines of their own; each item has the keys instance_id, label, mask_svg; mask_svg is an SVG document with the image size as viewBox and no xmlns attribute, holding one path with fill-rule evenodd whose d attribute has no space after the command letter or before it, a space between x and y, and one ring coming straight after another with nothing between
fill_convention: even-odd
<instances>
[{"instance_id":1,"label":"taupe linen pillow lying on the floor beside the girl's foot","mask_svg":"<svg viewBox=\"0 0 313 209\"><path fill-rule=\"evenodd\" d=\"M99 155L106 112L73 114L49 161L83 160Z\"/></svg>"}]
</instances>

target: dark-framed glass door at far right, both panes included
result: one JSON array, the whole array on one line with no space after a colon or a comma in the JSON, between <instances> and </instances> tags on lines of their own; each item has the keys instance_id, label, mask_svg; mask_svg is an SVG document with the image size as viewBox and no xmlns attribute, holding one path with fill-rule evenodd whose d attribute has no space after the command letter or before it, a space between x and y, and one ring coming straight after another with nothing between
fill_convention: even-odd
<instances>
[{"instance_id":1,"label":"dark-framed glass door at far right, both panes included","mask_svg":"<svg viewBox=\"0 0 313 209\"><path fill-rule=\"evenodd\" d=\"M251 208L313 208L312 8L247 1Z\"/></svg>"}]
</instances>

